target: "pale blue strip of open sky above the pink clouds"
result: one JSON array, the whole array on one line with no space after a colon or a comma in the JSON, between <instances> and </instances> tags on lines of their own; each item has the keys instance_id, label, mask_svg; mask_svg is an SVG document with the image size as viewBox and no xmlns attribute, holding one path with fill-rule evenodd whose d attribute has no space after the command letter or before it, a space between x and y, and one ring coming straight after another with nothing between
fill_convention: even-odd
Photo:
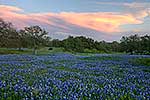
<instances>
[{"instance_id":1,"label":"pale blue strip of open sky above the pink clouds","mask_svg":"<svg viewBox=\"0 0 150 100\"><path fill-rule=\"evenodd\" d=\"M97 11L121 11L122 6L112 6L104 3L133 3L150 2L149 0L0 0L1 4L23 8L27 12L97 12ZM142 1L142 2L141 2Z\"/></svg>"}]
</instances>

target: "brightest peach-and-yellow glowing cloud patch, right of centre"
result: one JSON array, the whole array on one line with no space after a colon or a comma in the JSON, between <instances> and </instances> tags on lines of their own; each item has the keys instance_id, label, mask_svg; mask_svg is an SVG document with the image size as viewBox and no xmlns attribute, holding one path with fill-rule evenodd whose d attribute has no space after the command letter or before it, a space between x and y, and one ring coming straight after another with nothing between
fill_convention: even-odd
<instances>
[{"instance_id":1,"label":"brightest peach-and-yellow glowing cloud patch, right of centre","mask_svg":"<svg viewBox=\"0 0 150 100\"><path fill-rule=\"evenodd\" d=\"M60 13L61 19L74 25L93 29L100 32L112 33L121 31L119 27L124 24L140 24L141 20L131 15L119 13Z\"/></svg>"}]
</instances>

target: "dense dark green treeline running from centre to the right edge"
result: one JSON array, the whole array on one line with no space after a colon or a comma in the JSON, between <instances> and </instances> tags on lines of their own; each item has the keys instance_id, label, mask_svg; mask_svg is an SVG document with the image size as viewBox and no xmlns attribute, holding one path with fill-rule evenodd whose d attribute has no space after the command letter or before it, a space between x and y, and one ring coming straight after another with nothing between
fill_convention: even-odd
<instances>
[{"instance_id":1,"label":"dense dark green treeline running from centre to the right edge","mask_svg":"<svg viewBox=\"0 0 150 100\"><path fill-rule=\"evenodd\" d=\"M49 45L52 47L63 47L65 50L70 52L125 52L130 54L150 54L150 35L141 37L138 35L122 37L120 42L98 42L83 36L69 36L67 39L62 41L54 39Z\"/></svg>"}]
</instances>

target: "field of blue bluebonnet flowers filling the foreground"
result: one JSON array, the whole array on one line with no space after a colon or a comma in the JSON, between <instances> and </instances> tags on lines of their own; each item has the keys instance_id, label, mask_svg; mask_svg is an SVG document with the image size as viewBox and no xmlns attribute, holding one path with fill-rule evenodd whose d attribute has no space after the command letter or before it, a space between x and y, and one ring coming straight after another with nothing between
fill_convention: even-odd
<instances>
[{"instance_id":1,"label":"field of blue bluebonnet flowers filling the foreground","mask_svg":"<svg viewBox=\"0 0 150 100\"><path fill-rule=\"evenodd\" d=\"M149 100L140 55L0 55L1 100Z\"/></svg>"}]
</instances>

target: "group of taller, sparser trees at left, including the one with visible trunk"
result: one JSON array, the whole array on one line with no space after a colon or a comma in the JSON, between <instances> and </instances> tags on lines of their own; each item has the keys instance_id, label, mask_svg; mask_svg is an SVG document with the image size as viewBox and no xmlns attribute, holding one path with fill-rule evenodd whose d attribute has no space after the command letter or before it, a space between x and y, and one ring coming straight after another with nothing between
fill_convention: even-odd
<instances>
[{"instance_id":1,"label":"group of taller, sparser trees at left, including the one with visible trunk","mask_svg":"<svg viewBox=\"0 0 150 100\"><path fill-rule=\"evenodd\" d=\"M40 26L30 26L17 30L12 23L0 19L0 47L7 48L33 48L33 54L36 50L45 46L50 37Z\"/></svg>"}]
</instances>

